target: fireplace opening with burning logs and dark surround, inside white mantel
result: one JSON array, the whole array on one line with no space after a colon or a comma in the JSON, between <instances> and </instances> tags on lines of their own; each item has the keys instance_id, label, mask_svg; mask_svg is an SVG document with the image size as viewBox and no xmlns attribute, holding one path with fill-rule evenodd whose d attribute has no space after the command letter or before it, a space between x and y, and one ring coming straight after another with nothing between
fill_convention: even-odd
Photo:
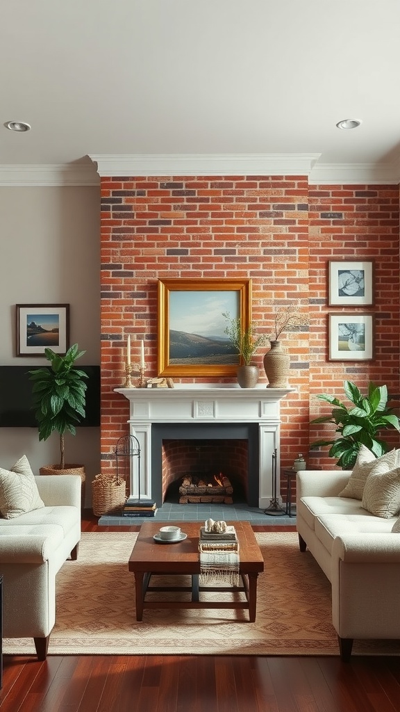
<instances>
[{"instance_id":1,"label":"fireplace opening with burning logs and dark surround, inside white mantel","mask_svg":"<svg viewBox=\"0 0 400 712\"><path fill-rule=\"evenodd\" d=\"M190 479L201 483L198 493L181 491ZM185 495L187 503L258 506L258 424L153 424L152 491L159 506L184 504Z\"/></svg>"}]
</instances>

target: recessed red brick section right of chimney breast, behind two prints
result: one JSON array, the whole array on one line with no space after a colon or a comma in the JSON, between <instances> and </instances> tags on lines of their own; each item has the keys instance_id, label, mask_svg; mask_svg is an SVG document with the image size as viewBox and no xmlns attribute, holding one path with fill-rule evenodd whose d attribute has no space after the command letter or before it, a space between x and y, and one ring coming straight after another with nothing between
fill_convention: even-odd
<instances>
[{"instance_id":1,"label":"recessed red brick section right of chimney breast, behind two prints","mask_svg":"<svg viewBox=\"0 0 400 712\"><path fill-rule=\"evenodd\" d=\"M316 393L336 394L346 401L344 380L364 392L370 381L385 384L399 405L399 187L394 185L310 186L310 417L329 414L329 404ZM327 261L374 260L373 307L327 307ZM375 359L327 361L327 314L373 313ZM310 442L330 437L330 425L310 426ZM399 446L396 431L382 437ZM332 467L327 449L313 451L309 461Z\"/></svg>"}]
</instances>

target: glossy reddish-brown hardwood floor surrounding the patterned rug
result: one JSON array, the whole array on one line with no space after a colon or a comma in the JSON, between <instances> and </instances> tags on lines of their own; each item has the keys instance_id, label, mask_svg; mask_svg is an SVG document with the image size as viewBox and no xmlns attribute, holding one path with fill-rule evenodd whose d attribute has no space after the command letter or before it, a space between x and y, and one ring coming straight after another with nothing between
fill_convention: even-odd
<instances>
[{"instance_id":1,"label":"glossy reddish-brown hardwood floor surrounding the patterned rug","mask_svg":"<svg viewBox=\"0 0 400 712\"><path fill-rule=\"evenodd\" d=\"M97 519L85 513L82 528L98 531ZM400 659L354 656L344 664L339 656L99 655L38 662L33 656L4 656L0 707L1 712L399 712Z\"/></svg>"}]
</instances>

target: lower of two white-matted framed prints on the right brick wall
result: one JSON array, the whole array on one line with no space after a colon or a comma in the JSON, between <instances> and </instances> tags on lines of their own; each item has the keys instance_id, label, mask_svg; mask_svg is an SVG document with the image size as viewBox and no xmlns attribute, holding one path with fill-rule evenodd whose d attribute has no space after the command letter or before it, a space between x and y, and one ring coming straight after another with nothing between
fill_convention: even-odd
<instances>
[{"instance_id":1,"label":"lower of two white-matted framed prints on the right brick wall","mask_svg":"<svg viewBox=\"0 0 400 712\"><path fill-rule=\"evenodd\" d=\"M374 314L328 314L329 360L374 359Z\"/></svg>"}]
</instances>

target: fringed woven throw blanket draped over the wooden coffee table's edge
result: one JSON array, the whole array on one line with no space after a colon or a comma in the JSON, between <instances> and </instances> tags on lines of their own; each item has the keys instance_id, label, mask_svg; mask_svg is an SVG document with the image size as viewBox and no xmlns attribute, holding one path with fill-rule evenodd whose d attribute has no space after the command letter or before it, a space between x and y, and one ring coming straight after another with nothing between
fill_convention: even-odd
<instances>
[{"instance_id":1,"label":"fringed woven throw blanket draped over the wooden coffee table's edge","mask_svg":"<svg viewBox=\"0 0 400 712\"><path fill-rule=\"evenodd\" d=\"M239 543L199 541L200 584L239 586Z\"/></svg>"}]
</instances>

